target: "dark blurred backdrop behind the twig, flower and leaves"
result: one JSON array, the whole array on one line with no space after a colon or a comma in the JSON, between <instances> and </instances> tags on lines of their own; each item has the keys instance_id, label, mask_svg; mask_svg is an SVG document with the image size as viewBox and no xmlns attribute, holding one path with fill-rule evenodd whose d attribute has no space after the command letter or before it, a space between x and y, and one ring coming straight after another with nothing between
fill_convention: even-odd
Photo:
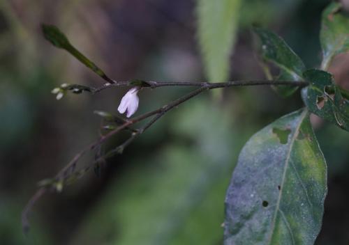
<instances>
[{"instance_id":1,"label":"dark blurred backdrop behind the twig, flower and leaves","mask_svg":"<svg viewBox=\"0 0 349 245\"><path fill-rule=\"evenodd\" d=\"M318 66L320 14L328 3L243 1L230 79L263 78L251 24L276 31L309 68ZM284 100L255 87L226 89L221 102L209 93L195 97L108 159L101 177L89 173L44 196L24 237L20 214L36 183L98 137L93 111L117 113L125 93L114 88L55 100L50 91L59 84L98 86L101 79L45 41L40 23L59 26L113 79L205 79L193 0L0 0L0 244L221 244L223 201L239 150L254 132L302 106L299 95ZM346 88L348 61L339 56L331 68ZM138 115L187 92L142 92ZM349 244L349 134L312 119L329 168L316 244Z\"/></svg>"}]
</instances>

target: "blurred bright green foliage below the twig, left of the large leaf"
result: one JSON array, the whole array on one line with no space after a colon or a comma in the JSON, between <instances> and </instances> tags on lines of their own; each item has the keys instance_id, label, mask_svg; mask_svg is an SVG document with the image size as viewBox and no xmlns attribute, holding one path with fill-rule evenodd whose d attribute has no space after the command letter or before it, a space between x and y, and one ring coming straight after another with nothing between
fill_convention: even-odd
<instances>
[{"instance_id":1,"label":"blurred bright green foliage below the twig, left of the large leaf","mask_svg":"<svg viewBox=\"0 0 349 245\"><path fill-rule=\"evenodd\" d=\"M185 141L166 142L154 157L130 161L138 168L114 181L75 244L220 243L222 198L242 144L226 134L235 133L232 123L207 100L181 107L171 128Z\"/></svg>"}]
</instances>

